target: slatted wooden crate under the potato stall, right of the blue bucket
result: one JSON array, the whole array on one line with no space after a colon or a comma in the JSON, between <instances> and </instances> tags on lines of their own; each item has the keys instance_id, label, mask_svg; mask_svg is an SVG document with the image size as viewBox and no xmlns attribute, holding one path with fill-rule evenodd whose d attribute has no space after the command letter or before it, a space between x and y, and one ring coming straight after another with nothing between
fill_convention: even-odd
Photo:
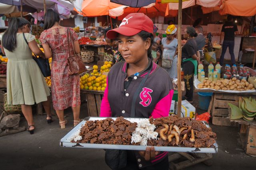
<instances>
[{"instance_id":1,"label":"slatted wooden crate under the potato stall, right of the blue bucket","mask_svg":"<svg viewBox=\"0 0 256 170\"><path fill-rule=\"evenodd\" d=\"M222 126L235 126L228 116L228 103L238 106L237 94L215 93L212 106L212 124Z\"/></svg>"}]
</instances>

